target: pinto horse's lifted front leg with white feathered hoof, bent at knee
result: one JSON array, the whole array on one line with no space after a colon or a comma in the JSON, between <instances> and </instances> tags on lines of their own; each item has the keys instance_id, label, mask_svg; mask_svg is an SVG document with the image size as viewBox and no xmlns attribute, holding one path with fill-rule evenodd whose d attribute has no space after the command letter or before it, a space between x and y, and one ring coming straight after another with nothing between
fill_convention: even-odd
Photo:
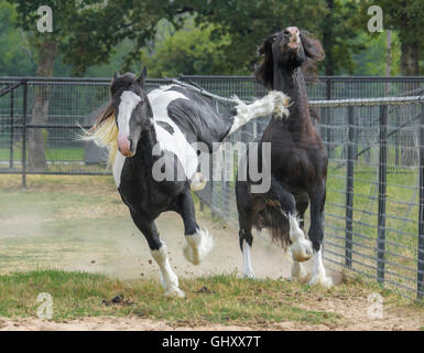
<instances>
[{"instance_id":1,"label":"pinto horse's lifted front leg with white feathered hoof, bent at knee","mask_svg":"<svg viewBox=\"0 0 424 353\"><path fill-rule=\"evenodd\" d=\"M197 225L193 199L188 189L180 195L176 211L183 217L184 235L187 240L184 256L193 265L198 265L214 248L214 238L207 229L200 229Z\"/></svg>"}]
</instances>

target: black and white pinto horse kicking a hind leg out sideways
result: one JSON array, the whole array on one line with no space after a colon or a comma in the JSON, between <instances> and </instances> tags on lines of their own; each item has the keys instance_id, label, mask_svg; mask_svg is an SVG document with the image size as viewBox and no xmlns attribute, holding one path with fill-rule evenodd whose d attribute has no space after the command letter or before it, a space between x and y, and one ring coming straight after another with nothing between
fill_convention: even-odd
<instances>
[{"instance_id":1,"label":"black and white pinto horse kicking a hind leg out sideways","mask_svg":"<svg viewBox=\"0 0 424 353\"><path fill-rule=\"evenodd\" d=\"M192 264L199 264L211 250L213 237L197 225L191 194L191 185L202 188L203 182L197 173L198 151L193 142L202 141L211 150L214 142L222 141L249 120L282 115L287 97L270 92L251 105L237 100L231 113L220 115L211 99L191 88L170 85L146 93L145 76L145 68L140 77L130 73L113 75L111 101L86 139L108 145L112 159L115 153L116 185L149 243L165 295L184 297L155 220L166 211L182 216L186 238L184 256ZM183 171L184 178L175 178L176 171Z\"/></svg>"}]
</instances>

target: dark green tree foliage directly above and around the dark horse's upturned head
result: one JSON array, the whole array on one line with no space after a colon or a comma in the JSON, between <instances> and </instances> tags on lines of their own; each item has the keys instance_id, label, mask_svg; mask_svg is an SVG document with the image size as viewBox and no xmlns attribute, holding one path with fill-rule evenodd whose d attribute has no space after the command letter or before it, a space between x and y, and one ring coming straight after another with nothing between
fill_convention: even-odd
<instances>
[{"instance_id":1,"label":"dark green tree foliage directly above and around the dark horse's upturned head","mask_svg":"<svg viewBox=\"0 0 424 353\"><path fill-rule=\"evenodd\" d=\"M322 40L327 58L325 73L352 72L351 54L363 50L349 28L356 3L343 0L192 0L184 1L199 15L197 21L219 24L215 35L229 34L227 61L237 71L251 71L258 60L256 49L268 35L289 25L307 30ZM189 4L189 7L188 7ZM183 7L183 6L182 6Z\"/></svg>"}]
</instances>

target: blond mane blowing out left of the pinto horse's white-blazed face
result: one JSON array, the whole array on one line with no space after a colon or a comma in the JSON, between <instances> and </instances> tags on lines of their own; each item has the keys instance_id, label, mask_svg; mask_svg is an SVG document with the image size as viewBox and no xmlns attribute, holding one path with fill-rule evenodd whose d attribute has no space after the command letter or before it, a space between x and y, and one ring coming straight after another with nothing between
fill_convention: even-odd
<instances>
[{"instance_id":1,"label":"blond mane blowing out left of the pinto horse's white-blazed face","mask_svg":"<svg viewBox=\"0 0 424 353\"><path fill-rule=\"evenodd\" d=\"M95 125L89 130L83 128L83 141L94 141L97 146L109 149L108 167L112 165L118 150L118 127L111 103L100 111Z\"/></svg>"}]
</instances>

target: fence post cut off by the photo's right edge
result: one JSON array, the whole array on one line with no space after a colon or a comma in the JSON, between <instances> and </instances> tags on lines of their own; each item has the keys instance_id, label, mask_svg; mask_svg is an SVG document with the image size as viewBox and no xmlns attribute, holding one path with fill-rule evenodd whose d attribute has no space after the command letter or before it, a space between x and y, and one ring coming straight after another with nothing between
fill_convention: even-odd
<instances>
[{"instance_id":1,"label":"fence post cut off by the photo's right edge","mask_svg":"<svg viewBox=\"0 0 424 353\"><path fill-rule=\"evenodd\" d=\"M424 104L421 104L420 119L420 206L416 297L424 297Z\"/></svg>"}]
</instances>

